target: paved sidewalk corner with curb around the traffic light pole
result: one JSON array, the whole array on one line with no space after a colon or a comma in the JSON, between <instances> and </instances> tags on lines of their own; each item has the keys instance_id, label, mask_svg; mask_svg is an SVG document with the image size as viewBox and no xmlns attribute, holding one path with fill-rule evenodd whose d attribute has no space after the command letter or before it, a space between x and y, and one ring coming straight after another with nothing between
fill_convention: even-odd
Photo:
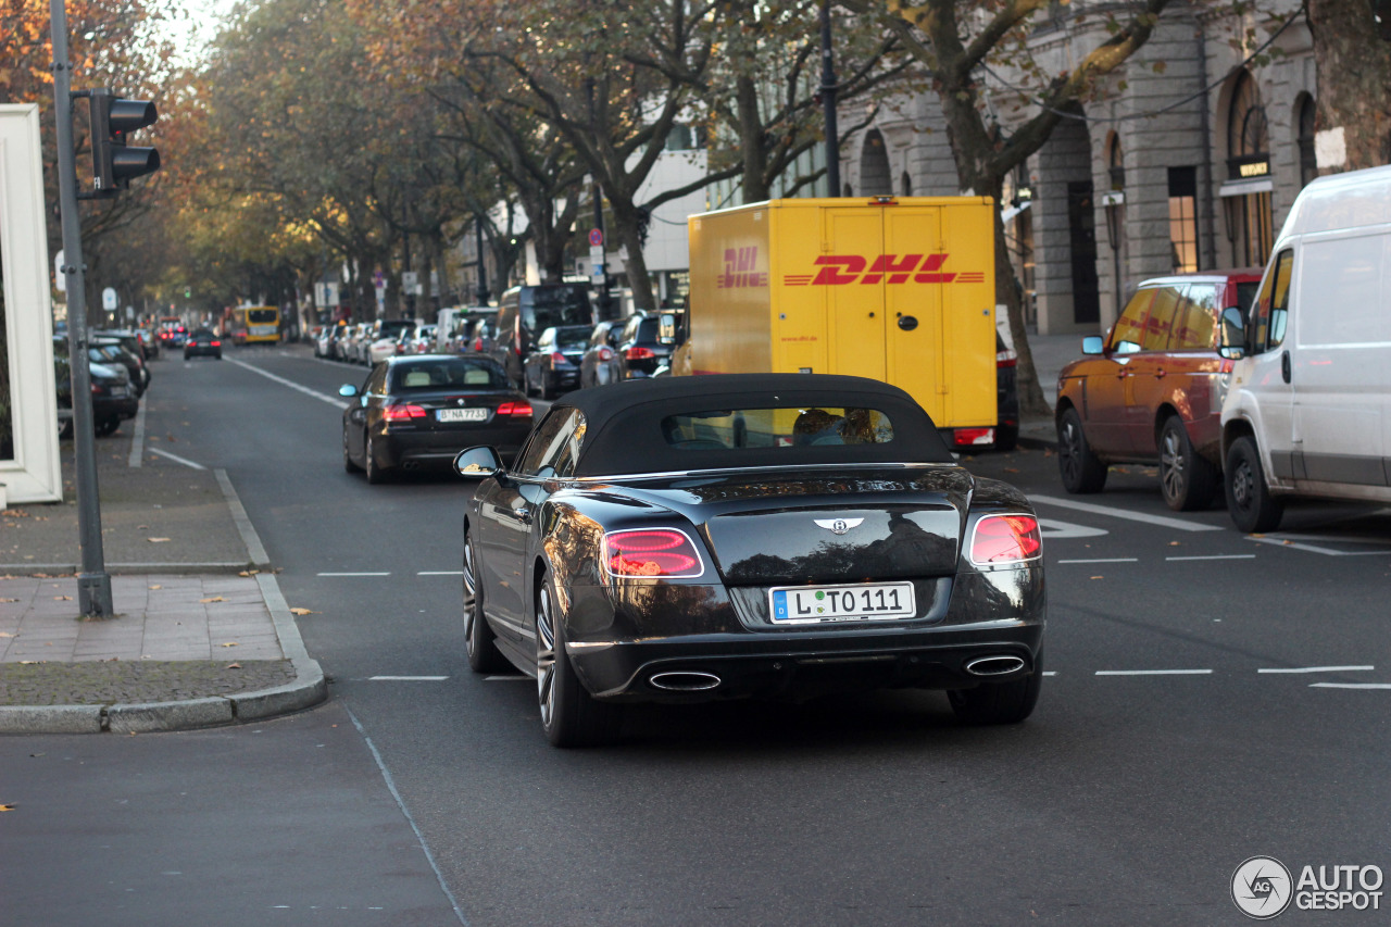
<instances>
[{"instance_id":1,"label":"paved sidewalk corner with curb around the traffic light pole","mask_svg":"<svg viewBox=\"0 0 1391 927\"><path fill-rule=\"evenodd\" d=\"M175 731L323 702L323 671L227 475L149 454L164 444L146 443L143 418L96 447L117 614L78 615L68 441L67 500L0 514L0 734Z\"/></svg>"}]
</instances>

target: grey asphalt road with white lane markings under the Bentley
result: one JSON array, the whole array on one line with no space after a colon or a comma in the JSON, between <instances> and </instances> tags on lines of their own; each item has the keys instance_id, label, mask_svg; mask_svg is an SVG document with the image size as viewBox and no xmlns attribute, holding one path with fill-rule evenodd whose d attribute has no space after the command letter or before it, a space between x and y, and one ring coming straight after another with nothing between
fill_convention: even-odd
<instances>
[{"instance_id":1,"label":"grey asphalt road with white lane markings under the Bentley","mask_svg":"<svg viewBox=\"0 0 1391 927\"><path fill-rule=\"evenodd\" d=\"M1303 505L1251 539L1170 512L1139 468L1067 497L1045 452L982 455L1045 519L1028 722L897 692L643 710L622 745L562 752L530 681L467 671L467 484L344 472L337 387L364 376L303 349L157 365L149 433L227 469L331 703L0 742L7 778L51 792L0 816L0 921L1238 924L1248 857L1391 870L1384 512Z\"/></svg>"}]
</instances>

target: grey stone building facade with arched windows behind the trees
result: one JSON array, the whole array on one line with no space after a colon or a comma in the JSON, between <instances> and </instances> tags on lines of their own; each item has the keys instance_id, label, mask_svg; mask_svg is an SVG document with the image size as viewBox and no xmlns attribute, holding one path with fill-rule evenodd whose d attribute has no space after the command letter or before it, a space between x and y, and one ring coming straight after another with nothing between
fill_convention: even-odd
<instances>
[{"instance_id":1,"label":"grey stone building facade with arched windows behind the trees","mask_svg":"<svg viewBox=\"0 0 1391 927\"><path fill-rule=\"evenodd\" d=\"M1078 6L1059 10L1067 17ZM1251 60L1232 39L1257 25L1167 11L1139 53L1011 178L1002 212L1039 333L1104 331L1148 277L1264 263L1295 195L1317 175L1316 88L1305 19ZM1267 40L1267 29L1255 31ZM1031 52L1059 72L1104 38L1099 17L1084 28L1056 18ZM1014 79L986 75L1000 103L1015 97ZM1006 131L1010 109L999 106ZM931 93L885 107L842 150L843 192L963 192Z\"/></svg>"}]
</instances>

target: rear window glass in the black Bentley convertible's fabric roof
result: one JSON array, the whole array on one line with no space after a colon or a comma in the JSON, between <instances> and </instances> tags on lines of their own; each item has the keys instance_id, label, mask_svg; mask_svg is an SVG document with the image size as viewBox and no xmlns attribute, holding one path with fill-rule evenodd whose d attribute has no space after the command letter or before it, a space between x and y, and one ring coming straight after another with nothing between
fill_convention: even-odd
<instances>
[{"instance_id":1,"label":"rear window glass in the black Bentley convertible's fabric roof","mask_svg":"<svg viewBox=\"0 0 1391 927\"><path fill-rule=\"evenodd\" d=\"M662 437L679 451L889 444L893 422L867 408L712 409L666 416Z\"/></svg>"}]
</instances>

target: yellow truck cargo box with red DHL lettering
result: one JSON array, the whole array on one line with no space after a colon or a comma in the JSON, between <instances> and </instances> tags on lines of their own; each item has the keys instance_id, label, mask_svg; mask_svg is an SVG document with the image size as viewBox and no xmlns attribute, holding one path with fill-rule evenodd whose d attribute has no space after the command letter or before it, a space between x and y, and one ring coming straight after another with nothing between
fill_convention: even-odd
<instances>
[{"instance_id":1,"label":"yellow truck cargo box with red DHL lettering","mask_svg":"<svg viewBox=\"0 0 1391 927\"><path fill-rule=\"evenodd\" d=\"M993 209L883 196L691 216L672 373L871 377L912 395L949 444L995 444Z\"/></svg>"}]
</instances>

